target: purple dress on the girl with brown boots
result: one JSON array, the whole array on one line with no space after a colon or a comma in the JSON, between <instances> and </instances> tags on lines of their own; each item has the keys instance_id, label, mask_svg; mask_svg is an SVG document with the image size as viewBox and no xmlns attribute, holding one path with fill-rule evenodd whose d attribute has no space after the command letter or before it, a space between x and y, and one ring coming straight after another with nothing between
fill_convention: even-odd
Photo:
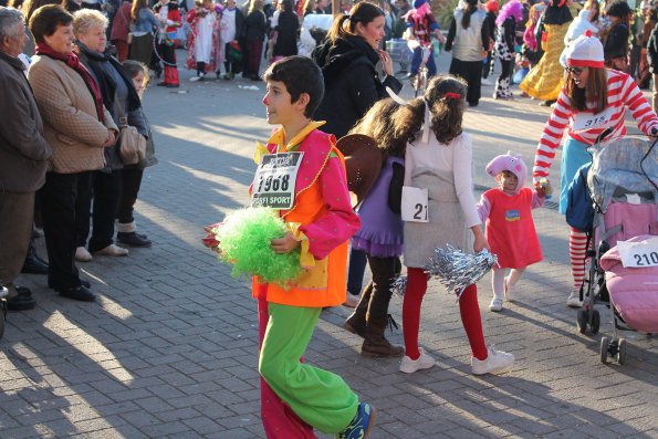
<instances>
[{"instance_id":1,"label":"purple dress on the girl with brown boots","mask_svg":"<svg viewBox=\"0 0 658 439\"><path fill-rule=\"evenodd\" d=\"M393 164L405 166L405 159L388 157L375 185L358 208L361 229L352 237L352 248L375 258L403 254L404 224L399 213L388 207Z\"/></svg>"}]
</instances>

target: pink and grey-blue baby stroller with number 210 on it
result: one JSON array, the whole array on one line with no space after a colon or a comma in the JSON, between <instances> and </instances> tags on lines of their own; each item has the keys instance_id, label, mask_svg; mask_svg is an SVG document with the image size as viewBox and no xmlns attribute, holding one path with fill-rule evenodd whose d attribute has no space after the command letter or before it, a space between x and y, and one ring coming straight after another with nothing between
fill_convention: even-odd
<instances>
[{"instance_id":1,"label":"pink and grey-blue baby stroller with number 210 on it","mask_svg":"<svg viewBox=\"0 0 658 439\"><path fill-rule=\"evenodd\" d=\"M600 341L600 360L626 359L626 339L617 330L658 333L658 252L643 268L624 266L617 243L639 242L658 236L657 140L622 137L592 150L587 187L595 207L593 249L578 311L581 333L598 333L605 304L613 316L612 337ZM654 258L654 260L651 259Z\"/></svg>"}]
</instances>

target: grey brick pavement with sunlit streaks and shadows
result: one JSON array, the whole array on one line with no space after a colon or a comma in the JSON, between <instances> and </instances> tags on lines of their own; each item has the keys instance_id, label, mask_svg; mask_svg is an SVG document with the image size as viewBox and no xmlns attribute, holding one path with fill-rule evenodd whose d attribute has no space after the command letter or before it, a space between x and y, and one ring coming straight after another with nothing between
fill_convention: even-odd
<instances>
[{"instance_id":1,"label":"grey brick pavement with sunlit streaks and shadows","mask_svg":"<svg viewBox=\"0 0 658 439\"><path fill-rule=\"evenodd\" d=\"M1 438L264 436L255 304L248 283L231 279L199 242L203 224L247 202L253 140L269 133L263 85L239 85L252 83L147 93L160 163L146 173L137 211L155 245L80 264L97 303L63 300L44 278L22 278L39 305L10 314L0 342ZM489 97L467 113L479 187L491 186L482 169L497 154L520 150L530 165L547 113L528 100ZM348 310L323 313L306 358L378 408L373 438L658 438L658 342L628 334L627 364L600 364L600 335L578 334L575 312L564 306L564 221L552 209L535 210L535 221L545 260L528 270L518 301L490 313L489 276L480 282L488 342L518 358L510 374L470 375L457 304L437 282L420 343L438 365L410 376L396 360L358 355L359 339L341 327ZM394 299L398 322L400 307ZM604 313L602 333L609 331ZM401 343L401 333L391 339Z\"/></svg>"}]
</instances>

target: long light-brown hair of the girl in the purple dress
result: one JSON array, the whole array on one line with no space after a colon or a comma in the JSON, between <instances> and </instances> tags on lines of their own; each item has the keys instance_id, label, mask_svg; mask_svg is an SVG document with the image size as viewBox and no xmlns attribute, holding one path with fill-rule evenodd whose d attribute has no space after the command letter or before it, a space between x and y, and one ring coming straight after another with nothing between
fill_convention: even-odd
<instances>
[{"instance_id":1,"label":"long light-brown hair of the girl in the purple dress","mask_svg":"<svg viewBox=\"0 0 658 439\"><path fill-rule=\"evenodd\" d=\"M395 130L395 116L400 104L387 97L379 100L349 130L349 134L365 134L377 140L384 154L393 157L405 157L409 136L398 136Z\"/></svg>"}]
</instances>

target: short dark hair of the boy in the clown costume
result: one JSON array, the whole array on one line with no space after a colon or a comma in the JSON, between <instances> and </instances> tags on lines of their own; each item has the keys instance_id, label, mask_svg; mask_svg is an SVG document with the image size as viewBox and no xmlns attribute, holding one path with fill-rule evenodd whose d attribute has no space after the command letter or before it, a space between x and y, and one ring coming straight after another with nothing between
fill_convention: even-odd
<instances>
[{"instance_id":1,"label":"short dark hair of the boy in the clown costume","mask_svg":"<svg viewBox=\"0 0 658 439\"><path fill-rule=\"evenodd\" d=\"M270 65L263 79L282 82L290 93L291 103L296 102L302 93L309 94L304 116L313 117L324 95L324 77L315 61L306 56L284 58Z\"/></svg>"}]
</instances>

